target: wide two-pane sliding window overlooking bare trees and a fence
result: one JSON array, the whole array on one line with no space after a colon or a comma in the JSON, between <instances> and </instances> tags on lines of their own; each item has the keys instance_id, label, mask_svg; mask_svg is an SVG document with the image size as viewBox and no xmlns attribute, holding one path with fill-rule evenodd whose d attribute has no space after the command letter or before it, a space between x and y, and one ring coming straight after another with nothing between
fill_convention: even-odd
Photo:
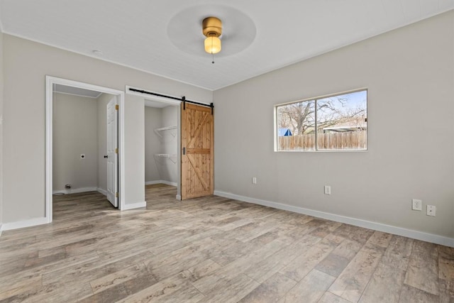
<instances>
[{"instance_id":1,"label":"wide two-pane sliding window overlooking bare trees and a fence","mask_svg":"<svg viewBox=\"0 0 454 303\"><path fill-rule=\"evenodd\" d=\"M367 90L275 106L275 150L367 150Z\"/></svg>"}]
</instances>

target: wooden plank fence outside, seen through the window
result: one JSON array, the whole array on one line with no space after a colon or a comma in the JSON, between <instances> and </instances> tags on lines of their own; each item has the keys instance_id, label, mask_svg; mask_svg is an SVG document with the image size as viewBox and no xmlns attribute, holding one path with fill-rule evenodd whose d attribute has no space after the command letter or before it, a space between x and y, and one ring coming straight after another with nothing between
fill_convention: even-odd
<instances>
[{"instance_id":1,"label":"wooden plank fence outside, seen through the window","mask_svg":"<svg viewBox=\"0 0 454 303\"><path fill-rule=\"evenodd\" d=\"M317 149L365 149L367 131L317 133ZM315 134L279 137L279 150L315 150Z\"/></svg>"}]
</instances>

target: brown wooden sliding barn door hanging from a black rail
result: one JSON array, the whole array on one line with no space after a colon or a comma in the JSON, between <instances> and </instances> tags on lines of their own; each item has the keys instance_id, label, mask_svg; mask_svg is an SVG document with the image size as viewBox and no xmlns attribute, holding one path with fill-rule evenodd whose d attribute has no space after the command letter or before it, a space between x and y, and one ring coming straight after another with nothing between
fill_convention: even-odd
<instances>
[{"instance_id":1,"label":"brown wooden sliding barn door hanging from a black rail","mask_svg":"<svg viewBox=\"0 0 454 303\"><path fill-rule=\"evenodd\" d=\"M182 200L214 191L214 117L211 108L182 104Z\"/></svg>"}]
</instances>

